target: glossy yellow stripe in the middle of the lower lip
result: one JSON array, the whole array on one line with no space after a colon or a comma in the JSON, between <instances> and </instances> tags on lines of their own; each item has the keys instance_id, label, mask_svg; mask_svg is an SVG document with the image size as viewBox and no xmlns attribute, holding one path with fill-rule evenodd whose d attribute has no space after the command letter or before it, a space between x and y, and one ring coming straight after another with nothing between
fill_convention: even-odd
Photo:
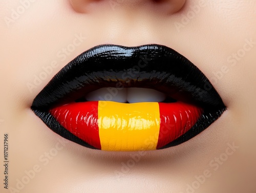
<instances>
[{"instance_id":1,"label":"glossy yellow stripe in the middle of the lower lip","mask_svg":"<svg viewBox=\"0 0 256 193\"><path fill-rule=\"evenodd\" d=\"M159 104L99 101L98 127L102 150L156 149L160 130Z\"/></svg>"}]
</instances>

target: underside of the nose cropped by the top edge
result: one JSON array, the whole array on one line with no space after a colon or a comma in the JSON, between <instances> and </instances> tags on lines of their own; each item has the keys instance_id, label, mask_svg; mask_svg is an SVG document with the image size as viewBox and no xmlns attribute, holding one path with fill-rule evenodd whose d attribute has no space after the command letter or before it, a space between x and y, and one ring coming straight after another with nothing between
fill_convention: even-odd
<instances>
[{"instance_id":1,"label":"underside of the nose cropped by the top edge","mask_svg":"<svg viewBox=\"0 0 256 193\"><path fill-rule=\"evenodd\" d=\"M69 0L73 9L78 13L88 13L91 6L97 9L102 5L109 5L109 8L141 8L151 7L159 13L176 13L185 4L186 0ZM105 3L105 4L104 4ZM105 7L105 9L108 9ZM113 11L113 10L112 10Z\"/></svg>"}]
</instances>

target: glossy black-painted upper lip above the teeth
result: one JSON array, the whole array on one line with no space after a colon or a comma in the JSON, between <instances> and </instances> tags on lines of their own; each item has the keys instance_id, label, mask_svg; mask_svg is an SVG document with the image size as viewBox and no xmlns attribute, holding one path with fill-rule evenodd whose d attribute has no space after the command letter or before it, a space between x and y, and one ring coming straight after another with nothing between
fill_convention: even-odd
<instances>
[{"instance_id":1,"label":"glossy black-painted upper lip above the teeth","mask_svg":"<svg viewBox=\"0 0 256 193\"><path fill-rule=\"evenodd\" d=\"M152 88L204 108L225 108L206 76L187 58L162 45L100 45L63 67L35 97L32 109L49 110L102 88Z\"/></svg>"}]
</instances>

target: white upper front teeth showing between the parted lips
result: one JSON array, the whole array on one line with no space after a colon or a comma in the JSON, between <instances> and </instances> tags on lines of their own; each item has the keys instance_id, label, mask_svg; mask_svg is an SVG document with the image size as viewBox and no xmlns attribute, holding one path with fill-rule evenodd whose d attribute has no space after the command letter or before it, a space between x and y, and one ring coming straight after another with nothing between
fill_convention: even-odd
<instances>
[{"instance_id":1,"label":"white upper front teeth showing between the parted lips","mask_svg":"<svg viewBox=\"0 0 256 193\"><path fill-rule=\"evenodd\" d=\"M115 102L162 102L166 95L144 88L101 88L85 96L88 101L108 100Z\"/></svg>"}]
</instances>

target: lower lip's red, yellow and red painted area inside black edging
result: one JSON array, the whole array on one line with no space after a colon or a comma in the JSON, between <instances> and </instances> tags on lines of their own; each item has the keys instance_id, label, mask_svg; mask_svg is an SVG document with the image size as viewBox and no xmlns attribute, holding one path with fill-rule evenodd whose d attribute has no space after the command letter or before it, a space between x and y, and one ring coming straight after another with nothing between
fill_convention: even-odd
<instances>
[{"instance_id":1,"label":"lower lip's red, yellow and red painted area inside black edging","mask_svg":"<svg viewBox=\"0 0 256 193\"><path fill-rule=\"evenodd\" d=\"M203 110L183 102L77 102L50 114L81 140L105 151L160 149L184 135Z\"/></svg>"}]
</instances>

